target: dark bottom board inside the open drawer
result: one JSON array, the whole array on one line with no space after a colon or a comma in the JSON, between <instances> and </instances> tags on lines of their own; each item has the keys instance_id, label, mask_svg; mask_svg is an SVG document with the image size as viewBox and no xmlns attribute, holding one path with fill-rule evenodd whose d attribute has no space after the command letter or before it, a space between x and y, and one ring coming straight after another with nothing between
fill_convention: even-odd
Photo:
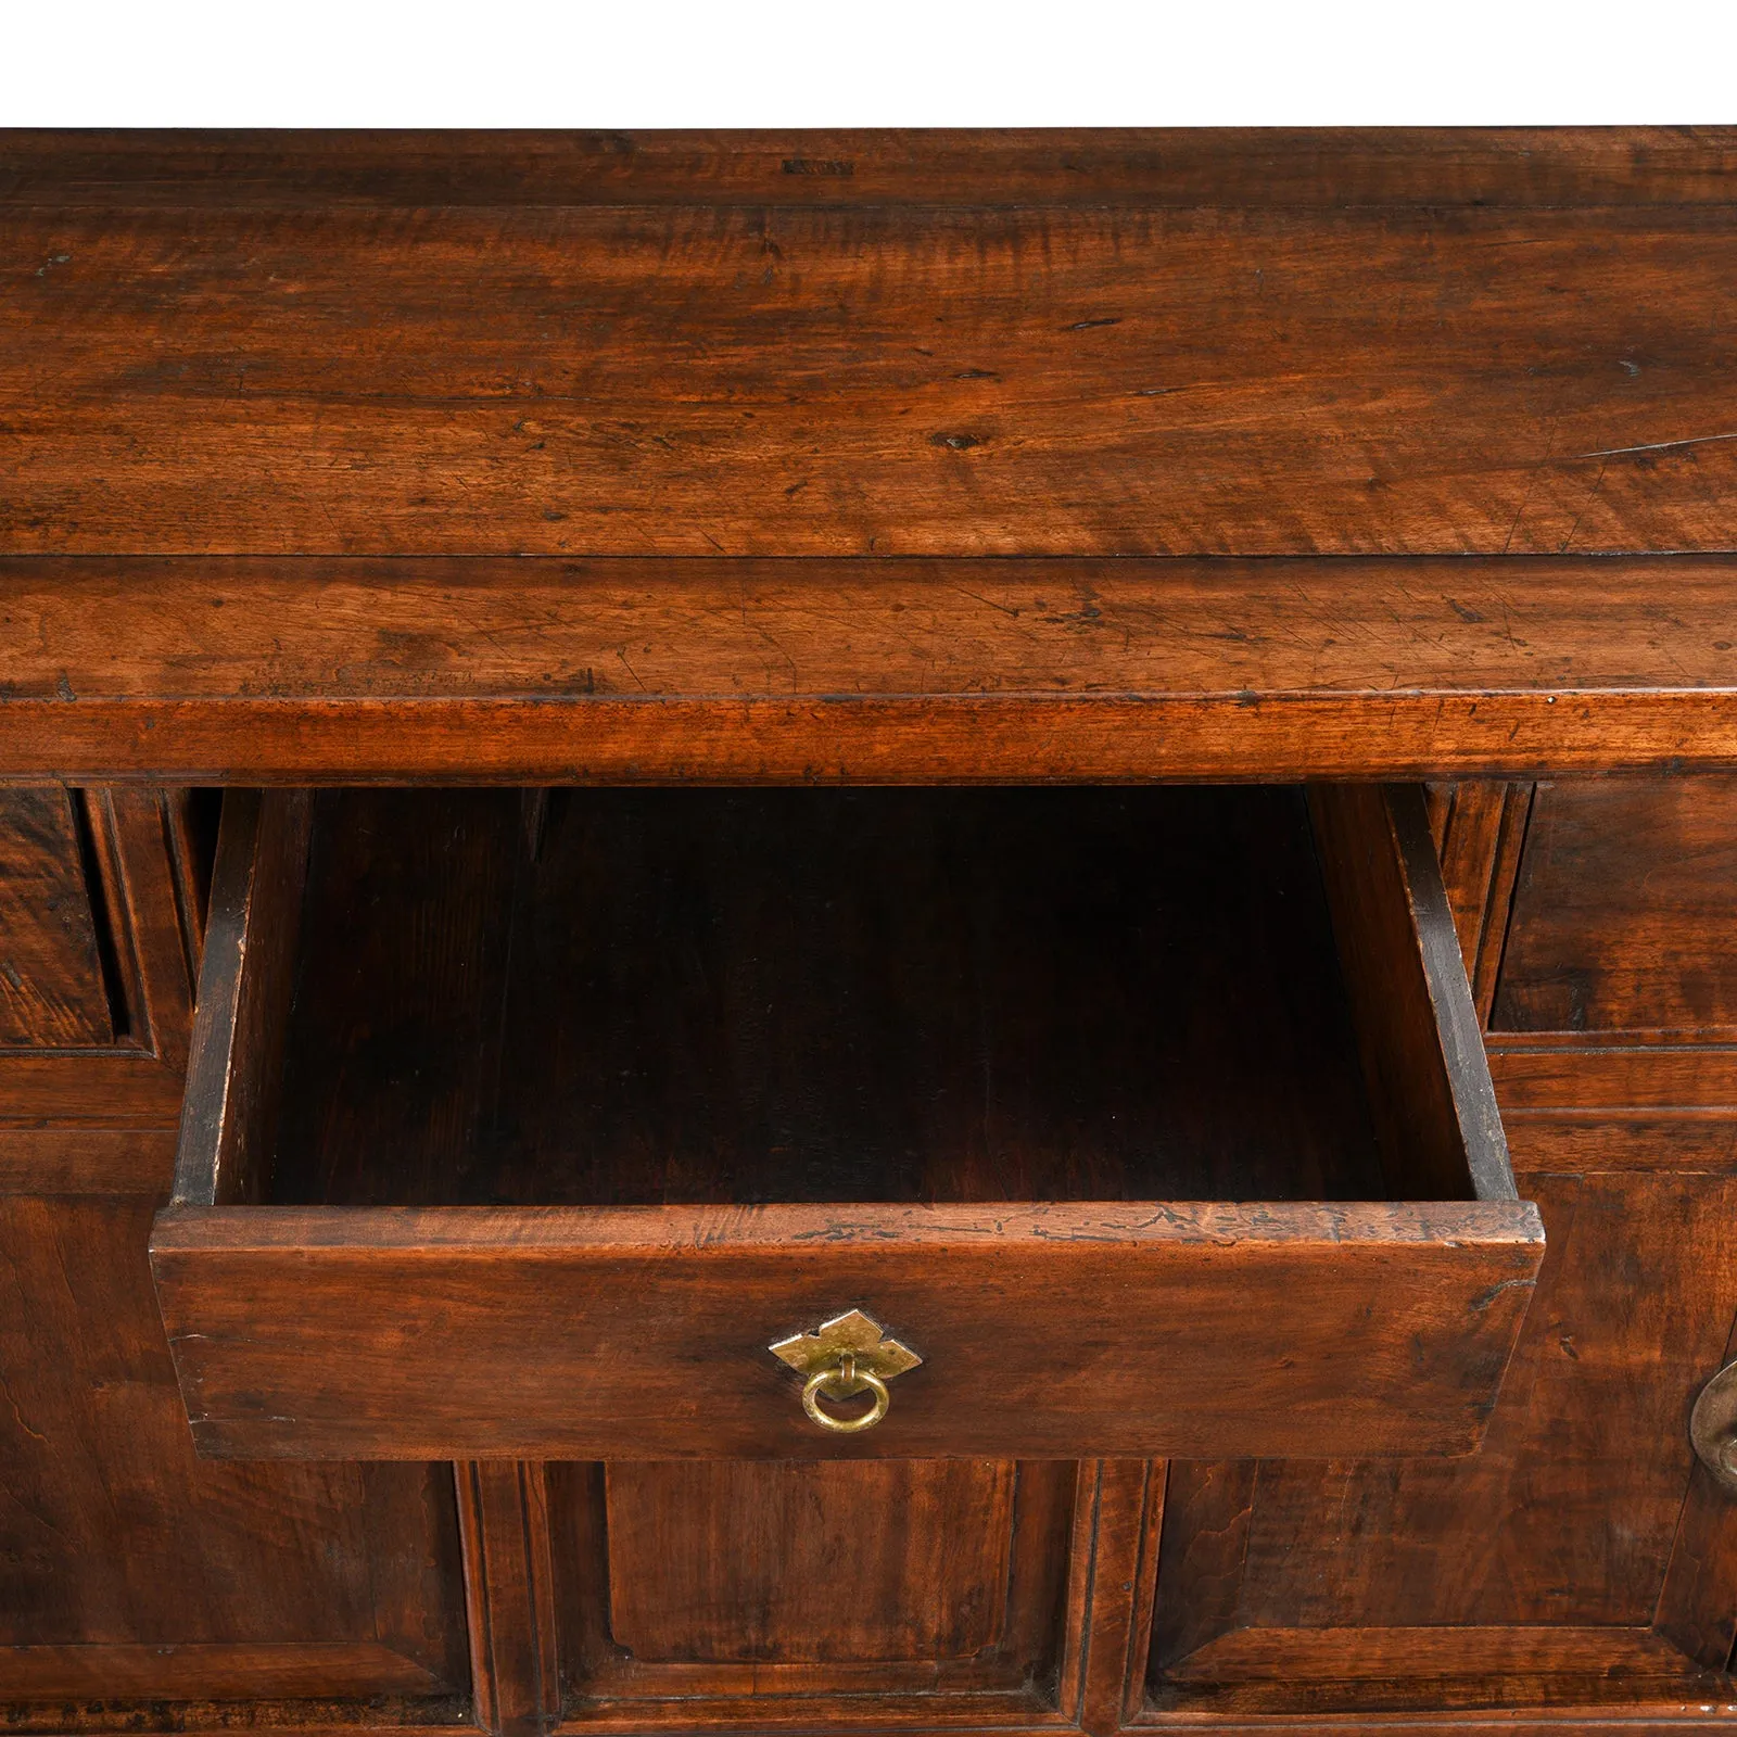
<instances>
[{"instance_id":1,"label":"dark bottom board inside the open drawer","mask_svg":"<svg viewBox=\"0 0 1737 1737\"><path fill-rule=\"evenodd\" d=\"M1296 790L323 794L287 1047L278 1204L1470 1193Z\"/></svg>"}]
</instances>

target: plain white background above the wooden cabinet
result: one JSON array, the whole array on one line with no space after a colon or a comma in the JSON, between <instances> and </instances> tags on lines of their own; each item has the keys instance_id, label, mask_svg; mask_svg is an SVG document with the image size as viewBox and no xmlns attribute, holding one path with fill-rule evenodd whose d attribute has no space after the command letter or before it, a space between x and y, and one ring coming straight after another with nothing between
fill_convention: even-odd
<instances>
[{"instance_id":1,"label":"plain white background above the wooden cabinet","mask_svg":"<svg viewBox=\"0 0 1737 1737\"><path fill-rule=\"evenodd\" d=\"M0 0L0 125L1737 122L1737 0Z\"/></svg>"}]
</instances>

